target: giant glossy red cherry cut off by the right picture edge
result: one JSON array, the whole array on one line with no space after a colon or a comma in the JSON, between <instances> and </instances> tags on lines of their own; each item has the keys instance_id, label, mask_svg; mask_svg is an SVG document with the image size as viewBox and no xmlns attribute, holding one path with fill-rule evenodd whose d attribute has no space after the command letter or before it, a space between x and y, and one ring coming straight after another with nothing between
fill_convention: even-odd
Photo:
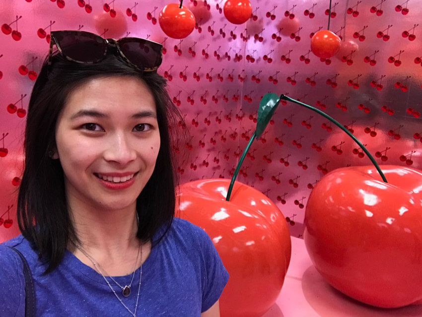
<instances>
[{"instance_id":1,"label":"giant glossy red cherry cut off by the right picture edge","mask_svg":"<svg viewBox=\"0 0 422 317\"><path fill-rule=\"evenodd\" d=\"M382 166L334 170L306 206L306 249L321 275L363 303L422 300L422 171Z\"/></svg>"}]
</instances>

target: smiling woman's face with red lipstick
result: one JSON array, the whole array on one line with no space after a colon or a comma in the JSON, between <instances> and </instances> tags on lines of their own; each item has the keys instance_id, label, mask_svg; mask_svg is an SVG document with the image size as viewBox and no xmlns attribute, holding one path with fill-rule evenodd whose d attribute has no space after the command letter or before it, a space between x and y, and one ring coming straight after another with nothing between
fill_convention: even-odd
<instances>
[{"instance_id":1,"label":"smiling woman's face with red lipstick","mask_svg":"<svg viewBox=\"0 0 422 317\"><path fill-rule=\"evenodd\" d=\"M134 206L160 148L156 107L135 77L93 78L73 90L56 126L71 209Z\"/></svg>"}]
</instances>

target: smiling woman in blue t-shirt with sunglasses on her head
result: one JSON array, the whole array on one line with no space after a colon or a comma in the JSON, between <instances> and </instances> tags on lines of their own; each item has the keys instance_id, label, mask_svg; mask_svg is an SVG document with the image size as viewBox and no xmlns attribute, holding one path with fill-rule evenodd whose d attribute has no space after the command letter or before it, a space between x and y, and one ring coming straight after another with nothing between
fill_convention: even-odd
<instances>
[{"instance_id":1,"label":"smiling woman in blue t-shirt with sunglasses on her head","mask_svg":"<svg viewBox=\"0 0 422 317\"><path fill-rule=\"evenodd\" d=\"M227 271L202 229L173 219L180 115L156 73L161 45L51 39L28 108L22 235L0 245L0 316L219 316Z\"/></svg>"}]
</instances>

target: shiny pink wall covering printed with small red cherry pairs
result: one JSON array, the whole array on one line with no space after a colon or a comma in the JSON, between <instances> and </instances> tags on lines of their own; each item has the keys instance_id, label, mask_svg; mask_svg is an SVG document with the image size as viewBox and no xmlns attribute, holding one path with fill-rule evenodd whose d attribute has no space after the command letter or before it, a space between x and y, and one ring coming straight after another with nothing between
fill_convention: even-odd
<instances>
[{"instance_id":1,"label":"shiny pink wall covering printed with small red cherry pairs","mask_svg":"<svg viewBox=\"0 0 422 317\"><path fill-rule=\"evenodd\" d=\"M174 144L180 181L231 178L256 127L261 97L285 94L349 129L378 164L422 169L421 0L333 1L330 30L340 51L320 59L310 38L328 27L329 0L251 0L243 24L224 0L185 0L191 34L173 39L159 25L165 0L9 0L0 2L0 242L18 234L16 193L31 89L48 55L51 30L162 43L158 72L168 80L189 138ZM185 154L188 155L185 155ZM252 144L237 180L281 209L301 237L306 202L328 172L371 165L340 128L282 102Z\"/></svg>"}]
</instances>

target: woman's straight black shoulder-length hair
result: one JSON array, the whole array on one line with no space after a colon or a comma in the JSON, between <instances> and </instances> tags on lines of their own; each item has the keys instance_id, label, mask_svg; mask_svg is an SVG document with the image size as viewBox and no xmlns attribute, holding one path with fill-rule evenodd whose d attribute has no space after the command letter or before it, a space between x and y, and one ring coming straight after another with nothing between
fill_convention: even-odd
<instances>
[{"instance_id":1,"label":"woman's straight black shoulder-length hair","mask_svg":"<svg viewBox=\"0 0 422 317\"><path fill-rule=\"evenodd\" d=\"M80 64L67 61L60 54L47 60L35 82L29 101L25 129L25 163L19 188L17 219L23 236L36 248L39 257L53 271L62 261L69 239L75 232L67 208L64 173L59 160L50 158L56 148L55 129L58 116L70 93L89 78L132 76L140 78L151 91L157 112L160 149L155 169L137 198L140 226L138 238L152 240L158 229L158 243L168 232L175 212L174 158L169 130L181 118L167 91L166 80L156 72L141 73L110 51L100 63ZM106 92L106 89L104 90ZM50 152L50 155L49 155Z\"/></svg>"}]
</instances>

